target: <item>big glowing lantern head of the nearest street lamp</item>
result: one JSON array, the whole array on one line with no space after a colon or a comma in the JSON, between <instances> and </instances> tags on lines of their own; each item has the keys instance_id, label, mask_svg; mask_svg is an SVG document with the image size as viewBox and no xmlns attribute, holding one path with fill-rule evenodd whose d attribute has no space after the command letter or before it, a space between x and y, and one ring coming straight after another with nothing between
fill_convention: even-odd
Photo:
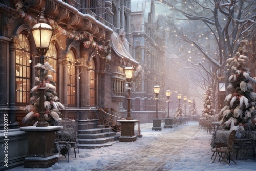
<instances>
[{"instance_id":1,"label":"big glowing lantern head of the nearest street lamp","mask_svg":"<svg viewBox=\"0 0 256 171\"><path fill-rule=\"evenodd\" d=\"M40 55L45 55L50 44L53 29L50 25L46 24L46 19L43 12L41 12L39 23L32 27L31 32L34 37L35 46L38 53Z\"/></svg>"}]
</instances>

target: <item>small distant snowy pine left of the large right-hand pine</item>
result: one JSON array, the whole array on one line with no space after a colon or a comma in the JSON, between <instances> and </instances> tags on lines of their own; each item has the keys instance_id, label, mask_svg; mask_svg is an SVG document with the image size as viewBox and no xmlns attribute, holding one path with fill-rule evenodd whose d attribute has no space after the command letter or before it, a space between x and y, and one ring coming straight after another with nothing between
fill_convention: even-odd
<instances>
[{"instance_id":1,"label":"small distant snowy pine left of the large right-hand pine","mask_svg":"<svg viewBox=\"0 0 256 171\"><path fill-rule=\"evenodd\" d=\"M214 109L212 92L212 88L208 88L205 90L204 109L202 110L201 117L205 118L206 120L215 121L216 110Z\"/></svg>"}]
</instances>

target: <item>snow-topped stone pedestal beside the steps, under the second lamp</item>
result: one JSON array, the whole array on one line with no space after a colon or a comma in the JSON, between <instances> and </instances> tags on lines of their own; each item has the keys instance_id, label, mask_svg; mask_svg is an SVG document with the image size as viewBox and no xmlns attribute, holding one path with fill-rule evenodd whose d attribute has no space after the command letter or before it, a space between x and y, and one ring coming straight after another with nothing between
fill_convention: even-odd
<instances>
[{"instance_id":1,"label":"snow-topped stone pedestal beside the steps, under the second lamp","mask_svg":"<svg viewBox=\"0 0 256 171\"><path fill-rule=\"evenodd\" d=\"M139 120L117 120L117 122L121 123L121 136L119 137L119 142L133 142L136 141L137 138L134 134L134 125Z\"/></svg>"}]
</instances>

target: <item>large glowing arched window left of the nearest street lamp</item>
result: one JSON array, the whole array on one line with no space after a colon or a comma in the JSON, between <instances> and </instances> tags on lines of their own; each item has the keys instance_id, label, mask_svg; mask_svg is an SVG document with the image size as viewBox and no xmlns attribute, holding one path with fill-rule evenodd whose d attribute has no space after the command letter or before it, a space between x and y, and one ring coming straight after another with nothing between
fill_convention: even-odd
<instances>
[{"instance_id":1,"label":"large glowing arched window left of the nearest street lamp","mask_svg":"<svg viewBox=\"0 0 256 171\"><path fill-rule=\"evenodd\" d=\"M16 103L28 104L30 100L30 46L25 34L19 34L19 44L16 51L15 89Z\"/></svg>"}]
</instances>

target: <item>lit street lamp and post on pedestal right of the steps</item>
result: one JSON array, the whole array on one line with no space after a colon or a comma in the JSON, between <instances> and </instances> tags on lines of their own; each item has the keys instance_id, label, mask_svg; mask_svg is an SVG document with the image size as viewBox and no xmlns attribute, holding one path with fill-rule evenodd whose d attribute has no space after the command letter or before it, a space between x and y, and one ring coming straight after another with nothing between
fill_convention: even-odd
<instances>
[{"instance_id":1,"label":"lit street lamp and post on pedestal right of the steps","mask_svg":"<svg viewBox=\"0 0 256 171\"><path fill-rule=\"evenodd\" d=\"M133 77L133 72L134 72L134 69L133 67L130 65L130 63L128 63L127 67L124 68L124 74L125 74L125 77L126 77L126 81L128 82L128 94L127 94L127 118L126 120L132 120L131 118L131 97L130 97L130 84L131 84L131 81L132 81L132 77Z\"/></svg>"}]
</instances>

